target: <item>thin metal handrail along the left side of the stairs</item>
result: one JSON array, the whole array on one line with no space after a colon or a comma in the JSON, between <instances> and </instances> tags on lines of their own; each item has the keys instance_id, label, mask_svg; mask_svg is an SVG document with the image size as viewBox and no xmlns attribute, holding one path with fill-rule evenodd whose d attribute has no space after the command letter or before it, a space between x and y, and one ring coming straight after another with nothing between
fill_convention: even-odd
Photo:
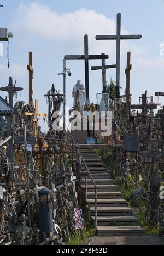
<instances>
[{"instance_id":1,"label":"thin metal handrail along the left side of the stairs","mask_svg":"<svg viewBox=\"0 0 164 256\"><path fill-rule=\"evenodd\" d=\"M80 156L80 159L82 160L82 162L85 166L85 170L89 174L91 181L93 183L93 186L95 187L95 228L97 229L97 186L96 186L95 181L93 180L91 172L89 171L89 169L85 163L84 158L82 157L82 155L80 153L79 145L78 145L78 143L75 143L74 138L73 138L71 132L68 130L68 128L67 128L67 133L69 133L69 136L71 137L71 140L72 140L72 162L73 162L73 144L74 144L74 146L76 147L77 153ZM68 136L67 136L67 140L68 140ZM87 201L87 176L85 176L85 201Z\"/></svg>"}]
</instances>

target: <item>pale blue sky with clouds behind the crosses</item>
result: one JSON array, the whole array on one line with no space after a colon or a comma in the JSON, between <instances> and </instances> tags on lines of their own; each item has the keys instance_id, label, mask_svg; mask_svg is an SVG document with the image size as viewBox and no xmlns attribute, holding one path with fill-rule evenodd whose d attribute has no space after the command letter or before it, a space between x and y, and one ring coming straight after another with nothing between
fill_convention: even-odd
<instances>
[{"instance_id":1,"label":"pale blue sky with clouds behind the crosses","mask_svg":"<svg viewBox=\"0 0 164 256\"><path fill-rule=\"evenodd\" d=\"M115 42L96 41L96 34L115 34L116 14L121 13L122 33L142 34L141 40L121 43L121 93L125 91L126 52L131 51L131 93L132 101L145 90L154 96L163 91L164 57L159 54L160 43L164 42L164 1L163 0L89 0L89 1L20 1L0 0L0 26L14 32L10 40L10 68L7 68L6 48L0 57L0 85L8 84L9 76L17 79L24 91L19 99L28 101L28 51L33 51L34 98L39 100L39 111L47 112L43 94L54 83L62 92L62 58L68 54L83 54L84 34L89 35L89 52L109 55L107 64L115 63ZM45 6L46 5L46 6ZM20 7L21 6L21 7ZM90 66L99 65L91 61ZM77 79L84 79L84 62L69 61L73 75L67 77L67 105L73 104L71 97ZM115 70L107 70L107 80L115 79ZM90 98L96 102L96 93L102 91L101 71L90 70ZM4 93L1 93L4 96ZM154 97L156 102L156 97ZM160 99L164 104L164 99ZM42 121L40 121L42 124ZM44 125L44 129L46 126Z\"/></svg>"}]
</instances>

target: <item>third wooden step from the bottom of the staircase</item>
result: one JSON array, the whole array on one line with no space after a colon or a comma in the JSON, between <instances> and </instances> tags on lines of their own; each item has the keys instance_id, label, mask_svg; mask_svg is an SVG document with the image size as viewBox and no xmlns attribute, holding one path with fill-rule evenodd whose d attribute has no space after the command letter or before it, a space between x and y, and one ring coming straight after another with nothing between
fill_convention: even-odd
<instances>
[{"instance_id":1,"label":"third wooden step from the bottom of the staircase","mask_svg":"<svg viewBox=\"0 0 164 256\"><path fill-rule=\"evenodd\" d=\"M90 210L91 216L95 216L95 207L88 207L87 210ZM127 216L132 215L132 209L126 206L120 207L97 207L97 216Z\"/></svg>"}]
</instances>

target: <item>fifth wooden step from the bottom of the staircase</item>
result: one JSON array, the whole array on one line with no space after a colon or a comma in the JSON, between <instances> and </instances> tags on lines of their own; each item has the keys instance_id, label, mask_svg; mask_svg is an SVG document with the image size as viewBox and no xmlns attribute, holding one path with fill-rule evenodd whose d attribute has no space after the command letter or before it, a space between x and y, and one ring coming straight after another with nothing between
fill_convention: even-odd
<instances>
[{"instance_id":1,"label":"fifth wooden step from the bottom of the staircase","mask_svg":"<svg viewBox=\"0 0 164 256\"><path fill-rule=\"evenodd\" d=\"M94 191L87 191L87 198L88 199L94 199L95 198L95 192ZM98 191L97 192L97 198L122 198L122 193L118 191Z\"/></svg>"}]
</instances>

